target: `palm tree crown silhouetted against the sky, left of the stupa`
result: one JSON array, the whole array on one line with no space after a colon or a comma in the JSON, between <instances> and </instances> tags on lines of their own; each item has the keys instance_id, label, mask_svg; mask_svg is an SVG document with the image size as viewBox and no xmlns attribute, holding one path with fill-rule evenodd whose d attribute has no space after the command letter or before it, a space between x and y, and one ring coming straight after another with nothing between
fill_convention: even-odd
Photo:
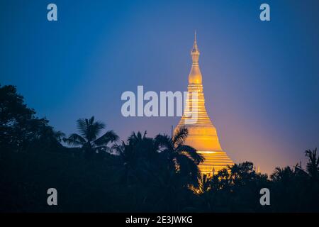
<instances>
[{"instance_id":1,"label":"palm tree crown silhouetted against the sky, left of the stupa","mask_svg":"<svg viewBox=\"0 0 319 227\"><path fill-rule=\"evenodd\" d=\"M94 121L94 116L91 118L79 118L77 120L77 128L79 134L72 133L69 138L63 138L63 141L68 145L80 146L86 157L91 157L94 153L99 153L101 151L110 151L107 145L118 140L118 135L114 131L107 131L101 137L98 135L101 130L105 128L105 124L100 121Z\"/></svg>"}]
</instances>

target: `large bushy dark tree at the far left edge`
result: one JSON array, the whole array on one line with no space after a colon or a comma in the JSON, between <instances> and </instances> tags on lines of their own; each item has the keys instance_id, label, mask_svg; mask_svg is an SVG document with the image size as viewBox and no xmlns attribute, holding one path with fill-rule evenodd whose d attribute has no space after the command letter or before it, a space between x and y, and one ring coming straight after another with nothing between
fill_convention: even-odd
<instances>
[{"instance_id":1,"label":"large bushy dark tree at the far left edge","mask_svg":"<svg viewBox=\"0 0 319 227\"><path fill-rule=\"evenodd\" d=\"M45 118L37 118L28 108L16 87L0 85L0 146L1 150L35 150L37 148L60 148L59 136Z\"/></svg>"}]
</instances>

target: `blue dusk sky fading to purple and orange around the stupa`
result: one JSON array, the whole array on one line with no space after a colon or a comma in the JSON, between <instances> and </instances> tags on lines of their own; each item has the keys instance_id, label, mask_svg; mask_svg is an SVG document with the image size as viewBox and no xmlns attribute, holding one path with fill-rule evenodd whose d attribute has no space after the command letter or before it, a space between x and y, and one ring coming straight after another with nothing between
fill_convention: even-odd
<instances>
[{"instance_id":1,"label":"blue dusk sky fading to purple and orange around the stupa","mask_svg":"<svg viewBox=\"0 0 319 227\"><path fill-rule=\"evenodd\" d=\"M55 3L58 21L47 21ZM259 6L271 21L259 20ZM319 147L319 1L0 1L0 82L57 130L94 115L125 140L178 117L121 115L121 94L186 91L194 30L222 148L262 172Z\"/></svg>"}]
</instances>

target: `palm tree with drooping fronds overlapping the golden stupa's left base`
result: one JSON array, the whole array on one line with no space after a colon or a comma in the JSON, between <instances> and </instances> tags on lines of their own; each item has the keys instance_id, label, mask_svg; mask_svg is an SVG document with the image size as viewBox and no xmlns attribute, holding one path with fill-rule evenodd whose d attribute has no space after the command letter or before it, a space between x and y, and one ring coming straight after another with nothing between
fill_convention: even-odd
<instances>
[{"instance_id":1,"label":"palm tree with drooping fronds overlapping the golden stupa's left base","mask_svg":"<svg viewBox=\"0 0 319 227\"><path fill-rule=\"evenodd\" d=\"M172 138L168 135L157 135L155 143L159 146L162 155L169 160L169 167L184 177L186 182L198 187L201 179L201 170L198 169L198 165L203 162L204 157L198 154L195 148L184 144L187 135L187 128L182 127Z\"/></svg>"}]
</instances>

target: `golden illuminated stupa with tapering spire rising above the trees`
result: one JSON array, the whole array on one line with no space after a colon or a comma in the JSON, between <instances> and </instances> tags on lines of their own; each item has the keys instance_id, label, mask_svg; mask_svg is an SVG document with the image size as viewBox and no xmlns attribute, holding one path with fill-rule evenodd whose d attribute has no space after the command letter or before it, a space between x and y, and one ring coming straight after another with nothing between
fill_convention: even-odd
<instances>
[{"instance_id":1,"label":"golden illuminated stupa with tapering spire rising above the trees","mask_svg":"<svg viewBox=\"0 0 319 227\"><path fill-rule=\"evenodd\" d=\"M188 128L189 135L185 140L186 145L195 148L198 150L198 153L201 153L201 155L205 157L204 162L199 165L201 173L213 175L214 173L216 174L218 170L226 168L228 165L233 165L234 163L220 147L216 128L213 126L213 123L211 123L211 119L206 112L198 57L199 50L195 33L194 46L191 50L193 65L189 73L186 107L181 121L179 121L174 131L177 131L180 127ZM193 94L196 95L194 96Z\"/></svg>"}]
</instances>

